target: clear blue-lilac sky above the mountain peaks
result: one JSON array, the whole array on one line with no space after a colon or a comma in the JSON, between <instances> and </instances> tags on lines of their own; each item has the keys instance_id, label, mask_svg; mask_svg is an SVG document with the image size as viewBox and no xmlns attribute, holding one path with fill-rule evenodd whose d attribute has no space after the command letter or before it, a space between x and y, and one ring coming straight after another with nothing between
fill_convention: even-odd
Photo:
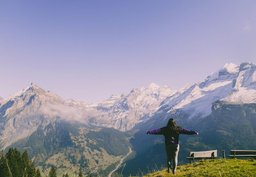
<instances>
[{"instance_id":1,"label":"clear blue-lilac sky above the mountain peaks","mask_svg":"<svg viewBox=\"0 0 256 177\"><path fill-rule=\"evenodd\" d=\"M93 103L256 63L256 1L0 1L0 96L38 86Z\"/></svg>"}]
</instances>

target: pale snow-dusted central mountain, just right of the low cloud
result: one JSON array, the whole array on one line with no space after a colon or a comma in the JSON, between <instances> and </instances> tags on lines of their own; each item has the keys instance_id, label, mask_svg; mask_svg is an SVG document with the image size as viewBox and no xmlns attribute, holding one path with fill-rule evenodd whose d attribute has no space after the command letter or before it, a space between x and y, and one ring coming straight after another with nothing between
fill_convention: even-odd
<instances>
[{"instance_id":1,"label":"pale snow-dusted central mountain, just right of the low cloud","mask_svg":"<svg viewBox=\"0 0 256 177\"><path fill-rule=\"evenodd\" d=\"M136 124L145 122L158 109L159 104L172 96L176 90L160 87L155 83L148 87L132 89L129 94L111 96L106 101L92 104L90 123L93 125L114 127L120 131L132 129Z\"/></svg>"}]
</instances>

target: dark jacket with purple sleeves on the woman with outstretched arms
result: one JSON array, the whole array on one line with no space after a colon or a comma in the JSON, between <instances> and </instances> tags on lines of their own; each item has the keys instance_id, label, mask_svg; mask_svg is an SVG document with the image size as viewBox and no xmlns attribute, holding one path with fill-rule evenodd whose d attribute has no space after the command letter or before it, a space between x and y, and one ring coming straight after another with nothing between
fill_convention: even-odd
<instances>
[{"instance_id":1,"label":"dark jacket with purple sleeves on the woman with outstretched arms","mask_svg":"<svg viewBox=\"0 0 256 177\"><path fill-rule=\"evenodd\" d=\"M160 129L152 129L147 134L163 134L165 145L179 144L179 134L197 134L196 131L191 131L178 127L179 132L171 131L170 127L162 127Z\"/></svg>"}]
</instances>

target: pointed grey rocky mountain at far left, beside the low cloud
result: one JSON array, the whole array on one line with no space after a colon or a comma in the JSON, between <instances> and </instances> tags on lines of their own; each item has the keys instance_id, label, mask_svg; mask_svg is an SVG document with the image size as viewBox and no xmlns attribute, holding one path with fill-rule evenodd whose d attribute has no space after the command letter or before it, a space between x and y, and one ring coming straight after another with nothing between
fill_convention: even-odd
<instances>
[{"instance_id":1,"label":"pointed grey rocky mountain at far left, beside the low cloud","mask_svg":"<svg viewBox=\"0 0 256 177\"><path fill-rule=\"evenodd\" d=\"M64 103L52 92L45 92L31 84L0 102L0 147L4 148L26 138L36 131L38 126L54 122L56 117L45 113L42 105Z\"/></svg>"}]
</instances>

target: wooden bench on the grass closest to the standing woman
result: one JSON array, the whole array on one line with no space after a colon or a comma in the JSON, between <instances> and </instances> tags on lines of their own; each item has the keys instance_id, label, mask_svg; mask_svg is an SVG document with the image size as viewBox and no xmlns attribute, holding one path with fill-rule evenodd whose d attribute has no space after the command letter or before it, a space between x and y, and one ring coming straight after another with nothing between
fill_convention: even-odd
<instances>
[{"instance_id":1,"label":"wooden bench on the grass closest to the standing woman","mask_svg":"<svg viewBox=\"0 0 256 177\"><path fill-rule=\"evenodd\" d=\"M200 152L190 152L189 163L191 164L191 160L200 160L200 159L215 159L218 153L217 150L209 150L209 151L200 151Z\"/></svg>"}]
</instances>

